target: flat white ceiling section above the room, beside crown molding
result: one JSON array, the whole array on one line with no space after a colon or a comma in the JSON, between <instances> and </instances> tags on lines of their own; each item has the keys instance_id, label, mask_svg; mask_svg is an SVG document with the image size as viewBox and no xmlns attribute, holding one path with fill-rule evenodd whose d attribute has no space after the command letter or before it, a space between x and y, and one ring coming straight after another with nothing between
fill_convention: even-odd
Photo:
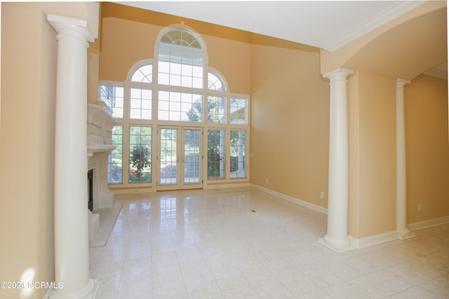
<instances>
[{"instance_id":1,"label":"flat white ceiling section above the room, beside crown molding","mask_svg":"<svg viewBox=\"0 0 449 299\"><path fill-rule=\"evenodd\" d=\"M425 1L120 1L333 51Z\"/></svg>"}]
</instances>

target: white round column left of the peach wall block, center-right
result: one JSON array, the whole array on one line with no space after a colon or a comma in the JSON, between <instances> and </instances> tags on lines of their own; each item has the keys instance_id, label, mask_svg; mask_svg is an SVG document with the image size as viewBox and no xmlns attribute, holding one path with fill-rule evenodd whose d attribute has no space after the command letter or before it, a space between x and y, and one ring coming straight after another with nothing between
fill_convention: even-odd
<instances>
[{"instance_id":1,"label":"white round column left of the peach wall block, center-right","mask_svg":"<svg viewBox=\"0 0 449 299\"><path fill-rule=\"evenodd\" d=\"M323 75L330 80L328 232L319 242L337 252L354 249L347 235L347 77L352 74L351 69L338 68Z\"/></svg>"}]
</instances>

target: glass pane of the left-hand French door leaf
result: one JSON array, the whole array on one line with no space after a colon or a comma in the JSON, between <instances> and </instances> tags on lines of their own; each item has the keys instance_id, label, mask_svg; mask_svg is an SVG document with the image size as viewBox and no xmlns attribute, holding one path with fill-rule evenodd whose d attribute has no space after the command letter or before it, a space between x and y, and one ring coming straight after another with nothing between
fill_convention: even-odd
<instances>
[{"instance_id":1,"label":"glass pane of the left-hand French door leaf","mask_svg":"<svg viewBox=\"0 0 449 299\"><path fill-rule=\"evenodd\" d=\"M161 129L161 185L177 183L177 129Z\"/></svg>"}]
</instances>

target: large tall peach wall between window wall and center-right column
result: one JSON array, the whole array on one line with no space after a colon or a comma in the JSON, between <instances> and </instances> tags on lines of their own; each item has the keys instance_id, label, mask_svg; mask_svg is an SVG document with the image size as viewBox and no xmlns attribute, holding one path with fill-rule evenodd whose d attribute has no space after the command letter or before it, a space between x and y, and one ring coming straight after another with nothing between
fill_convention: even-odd
<instances>
[{"instance_id":1,"label":"large tall peach wall between window wall and center-right column","mask_svg":"<svg viewBox=\"0 0 449 299\"><path fill-rule=\"evenodd\" d=\"M326 207L329 88L317 50L251 47L250 130L251 183Z\"/></svg>"}]
</instances>

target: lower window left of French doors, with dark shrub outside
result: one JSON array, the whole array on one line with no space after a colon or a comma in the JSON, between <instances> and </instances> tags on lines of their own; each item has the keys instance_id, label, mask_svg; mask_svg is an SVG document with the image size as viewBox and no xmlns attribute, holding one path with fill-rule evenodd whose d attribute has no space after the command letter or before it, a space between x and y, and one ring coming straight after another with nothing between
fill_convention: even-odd
<instances>
[{"instance_id":1,"label":"lower window left of French doors, with dark shrub outside","mask_svg":"<svg viewBox=\"0 0 449 299\"><path fill-rule=\"evenodd\" d=\"M129 181L152 181L152 128L129 128Z\"/></svg>"}]
</instances>

